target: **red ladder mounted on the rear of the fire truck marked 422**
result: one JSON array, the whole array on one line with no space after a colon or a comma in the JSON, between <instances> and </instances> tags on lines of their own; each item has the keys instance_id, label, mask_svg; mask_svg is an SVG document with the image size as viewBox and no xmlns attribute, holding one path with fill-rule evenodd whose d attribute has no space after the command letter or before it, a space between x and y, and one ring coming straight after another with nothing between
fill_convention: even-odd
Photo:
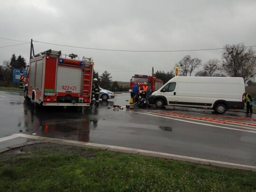
<instances>
[{"instance_id":1,"label":"red ladder mounted on the rear of the fire truck marked 422","mask_svg":"<svg viewBox=\"0 0 256 192\"><path fill-rule=\"evenodd\" d=\"M92 75L93 75L93 65L91 65L91 58L82 58L84 60L83 65L83 84L82 84L82 95L91 97L91 83L92 83ZM88 64L88 61L90 62Z\"/></svg>"}]
</instances>

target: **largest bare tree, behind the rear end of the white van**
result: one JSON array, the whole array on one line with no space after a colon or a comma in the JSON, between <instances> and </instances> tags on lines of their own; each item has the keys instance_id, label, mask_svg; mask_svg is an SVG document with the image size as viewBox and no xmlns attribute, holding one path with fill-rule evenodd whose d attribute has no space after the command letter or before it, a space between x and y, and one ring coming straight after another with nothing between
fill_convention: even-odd
<instances>
[{"instance_id":1,"label":"largest bare tree, behind the rear end of the white van","mask_svg":"<svg viewBox=\"0 0 256 192\"><path fill-rule=\"evenodd\" d=\"M244 43L225 45L222 54L221 69L231 77L243 77L248 81L256 75L256 57L252 47L246 48Z\"/></svg>"}]
</instances>

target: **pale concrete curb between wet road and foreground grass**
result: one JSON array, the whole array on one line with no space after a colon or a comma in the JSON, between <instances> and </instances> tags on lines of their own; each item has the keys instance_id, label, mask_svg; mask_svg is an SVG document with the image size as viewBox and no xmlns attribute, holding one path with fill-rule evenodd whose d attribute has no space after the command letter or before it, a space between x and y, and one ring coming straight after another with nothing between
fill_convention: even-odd
<instances>
[{"instance_id":1,"label":"pale concrete curb between wet road and foreground grass","mask_svg":"<svg viewBox=\"0 0 256 192\"><path fill-rule=\"evenodd\" d=\"M149 151L149 150L139 150L134 148L118 147L113 145L104 145L104 144L97 144L97 143L91 143L91 142L78 142L78 141L70 141L70 140L64 140L64 139L52 139L52 138L40 137L35 135L27 135L27 134L13 134L11 135L10 138L13 139L18 137L34 139L34 141L25 142L25 143L10 146L8 148L0 149L0 153L7 151L9 149L15 149L15 148L23 147L26 145L49 142L49 143L55 143L55 144L85 147L85 148L91 148L91 149L110 150L110 151L128 153L128 154L139 154L139 155L148 156L148 157L187 161L191 163L203 164L208 166L226 167L226 168L242 169L242 170L249 170L249 171L256 172L255 166L241 165L241 164L235 164L235 163L229 163L229 162L223 162L223 161L215 161L210 159L193 158L193 157L174 155L169 153L161 153L161 152L155 152L155 151Z\"/></svg>"}]
</instances>

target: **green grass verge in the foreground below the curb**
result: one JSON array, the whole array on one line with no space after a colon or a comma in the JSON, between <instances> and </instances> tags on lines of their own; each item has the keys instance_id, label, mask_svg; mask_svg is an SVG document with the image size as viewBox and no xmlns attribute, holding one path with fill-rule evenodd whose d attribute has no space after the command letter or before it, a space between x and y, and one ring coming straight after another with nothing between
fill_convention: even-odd
<instances>
[{"instance_id":1,"label":"green grass verge in the foreground below the curb","mask_svg":"<svg viewBox=\"0 0 256 192\"><path fill-rule=\"evenodd\" d=\"M77 152L74 152L77 151ZM256 192L256 173L76 148L0 159L1 192Z\"/></svg>"}]
</instances>

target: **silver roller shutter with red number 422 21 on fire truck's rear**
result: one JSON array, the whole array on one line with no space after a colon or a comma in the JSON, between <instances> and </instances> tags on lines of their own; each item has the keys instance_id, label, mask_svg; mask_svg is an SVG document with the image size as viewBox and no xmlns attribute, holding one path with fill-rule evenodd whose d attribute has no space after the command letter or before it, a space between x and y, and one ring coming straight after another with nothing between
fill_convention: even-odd
<instances>
[{"instance_id":1,"label":"silver roller shutter with red number 422 21 on fire truck's rear","mask_svg":"<svg viewBox=\"0 0 256 192\"><path fill-rule=\"evenodd\" d=\"M80 68L60 67L57 69L56 92L81 92L82 73ZM74 78L76 77L76 78Z\"/></svg>"}]
</instances>

